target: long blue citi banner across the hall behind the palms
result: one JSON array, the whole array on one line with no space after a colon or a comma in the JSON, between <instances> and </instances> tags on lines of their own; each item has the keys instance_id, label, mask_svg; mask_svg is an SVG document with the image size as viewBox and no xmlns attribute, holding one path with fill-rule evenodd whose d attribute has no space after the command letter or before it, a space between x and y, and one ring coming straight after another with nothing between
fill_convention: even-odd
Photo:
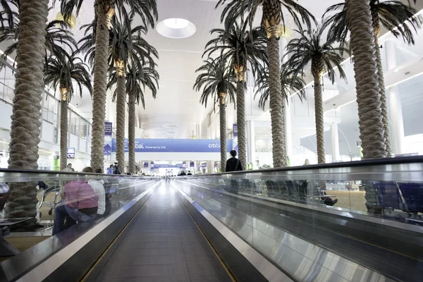
<instances>
[{"instance_id":1,"label":"long blue citi banner across the hall behind the palms","mask_svg":"<svg viewBox=\"0 0 423 282\"><path fill-rule=\"evenodd\" d=\"M232 140L227 140L228 152ZM112 139L111 152L116 152L116 139ZM125 152L128 152L128 139L125 139ZM219 153L220 141L207 139L135 139L135 152L178 152L178 153Z\"/></svg>"}]
</instances>

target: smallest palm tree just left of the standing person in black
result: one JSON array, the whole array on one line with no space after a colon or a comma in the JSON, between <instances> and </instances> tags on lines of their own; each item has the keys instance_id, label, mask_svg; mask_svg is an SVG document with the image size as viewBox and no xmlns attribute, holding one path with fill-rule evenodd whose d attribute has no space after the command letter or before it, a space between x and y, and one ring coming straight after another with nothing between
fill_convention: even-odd
<instances>
[{"instance_id":1,"label":"smallest palm tree just left of the standing person in black","mask_svg":"<svg viewBox=\"0 0 423 282\"><path fill-rule=\"evenodd\" d=\"M226 66L226 61L221 57L217 59L209 58L195 71L200 73L193 89L202 91L200 102L207 107L209 99L213 99L214 104L219 103L220 114L220 142L221 142L221 172L226 169L226 102L235 102L235 85L233 84L232 70Z\"/></svg>"}]
</instances>

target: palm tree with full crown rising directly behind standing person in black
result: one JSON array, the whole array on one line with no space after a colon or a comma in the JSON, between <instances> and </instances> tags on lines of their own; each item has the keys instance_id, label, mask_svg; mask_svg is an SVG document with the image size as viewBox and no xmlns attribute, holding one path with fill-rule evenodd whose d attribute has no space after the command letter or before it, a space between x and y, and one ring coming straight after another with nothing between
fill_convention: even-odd
<instances>
[{"instance_id":1,"label":"palm tree with full crown rising directly behind standing person in black","mask_svg":"<svg viewBox=\"0 0 423 282\"><path fill-rule=\"evenodd\" d=\"M236 116L238 125L239 158L244 168L247 167L247 134L245 130L245 73L249 63L252 73L259 72L266 56L266 38L260 27L248 30L248 23L234 23L231 30L216 28L211 34L216 37L207 42L204 55L220 51L236 75Z\"/></svg>"}]
</instances>

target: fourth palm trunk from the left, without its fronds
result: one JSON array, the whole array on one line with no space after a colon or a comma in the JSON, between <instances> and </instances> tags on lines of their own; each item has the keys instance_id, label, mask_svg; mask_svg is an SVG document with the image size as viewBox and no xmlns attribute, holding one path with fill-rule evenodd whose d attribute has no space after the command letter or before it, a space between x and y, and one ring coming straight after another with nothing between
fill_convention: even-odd
<instances>
[{"instance_id":1,"label":"fourth palm trunk from the left, without its fronds","mask_svg":"<svg viewBox=\"0 0 423 282\"><path fill-rule=\"evenodd\" d=\"M125 170L125 75L123 62L116 63L118 72L116 86L116 160L121 172ZM120 73L120 74L119 74Z\"/></svg>"}]
</instances>

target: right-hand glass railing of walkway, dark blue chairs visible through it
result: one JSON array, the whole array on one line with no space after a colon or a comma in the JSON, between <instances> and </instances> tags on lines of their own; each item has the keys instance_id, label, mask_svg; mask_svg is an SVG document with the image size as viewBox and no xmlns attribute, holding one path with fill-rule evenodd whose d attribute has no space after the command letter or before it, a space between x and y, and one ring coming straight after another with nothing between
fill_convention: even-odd
<instances>
[{"instance_id":1,"label":"right-hand glass railing of walkway, dark blue chairs visible through it","mask_svg":"<svg viewBox=\"0 0 423 282\"><path fill-rule=\"evenodd\" d=\"M421 281L422 157L173 183L298 281Z\"/></svg>"}]
</instances>

